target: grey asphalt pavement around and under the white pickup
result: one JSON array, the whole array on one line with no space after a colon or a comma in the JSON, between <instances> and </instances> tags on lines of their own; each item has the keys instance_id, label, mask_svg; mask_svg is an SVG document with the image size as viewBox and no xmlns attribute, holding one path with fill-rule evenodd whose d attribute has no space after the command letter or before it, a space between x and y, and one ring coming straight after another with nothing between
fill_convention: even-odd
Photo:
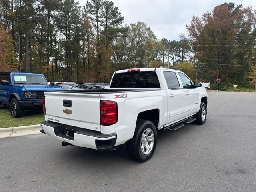
<instances>
[{"instance_id":1,"label":"grey asphalt pavement around and under the white pickup","mask_svg":"<svg viewBox=\"0 0 256 192\"><path fill-rule=\"evenodd\" d=\"M162 131L154 156L124 146L62 147L47 135L0 139L1 192L256 191L256 94L209 93L204 125Z\"/></svg>"}]
</instances>

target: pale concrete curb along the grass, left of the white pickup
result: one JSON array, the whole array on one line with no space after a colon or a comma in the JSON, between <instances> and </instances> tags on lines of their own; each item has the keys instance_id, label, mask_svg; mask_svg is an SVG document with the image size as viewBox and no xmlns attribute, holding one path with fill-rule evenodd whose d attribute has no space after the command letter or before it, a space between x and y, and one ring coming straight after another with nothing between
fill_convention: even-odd
<instances>
[{"instance_id":1,"label":"pale concrete curb along the grass, left of the white pickup","mask_svg":"<svg viewBox=\"0 0 256 192\"><path fill-rule=\"evenodd\" d=\"M39 134L40 129L42 129L42 126L40 125L0 128L0 138Z\"/></svg>"}]
</instances>

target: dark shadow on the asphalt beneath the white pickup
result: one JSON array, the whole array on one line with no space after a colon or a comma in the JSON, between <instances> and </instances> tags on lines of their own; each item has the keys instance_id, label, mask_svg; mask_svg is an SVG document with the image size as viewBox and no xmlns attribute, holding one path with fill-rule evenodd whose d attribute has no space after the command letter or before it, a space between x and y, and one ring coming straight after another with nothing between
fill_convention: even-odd
<instances>
[{"instance_id":1,"label":"dark shadow on the asphalt beneath the white pickup","mask_svg":"<svg viewBox=\"0 0 256 192\"><path fill-rule=\"evenodd\" d=\"M158 133L158 144L154 155L145 163L133 161L126 151L125 144L117 146L115 152L97 151L77 146L61 147L60 145L58 146L58 149L51 149L54 150L52 160L66 164L67 167L80 167L82 170L93 167L97 169L102 168L102 170L107 171L108 167L118 168L122 166L123 168L129 169L133 166L145 166L145 164L151 164L152 162L154 163L163 160L164 158L168 158L168 156L165 155L166 150L169 150L168 154L171 154L173 148L179 147L178 141L182 140L182 137L188 136L190 132L197 132L197 130L200 130L201 128L201 126L190 124L174 132L160 130Z\"/></svg>"}]
</instances>

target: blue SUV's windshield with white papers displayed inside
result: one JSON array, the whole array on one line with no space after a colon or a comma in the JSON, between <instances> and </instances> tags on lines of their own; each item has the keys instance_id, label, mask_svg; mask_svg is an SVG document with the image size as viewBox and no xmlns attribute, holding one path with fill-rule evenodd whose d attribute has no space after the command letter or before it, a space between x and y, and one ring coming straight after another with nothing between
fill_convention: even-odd
<instances>
[{"instance_id":1,"label":"blue SUV's windshield with white papers displayed inside","mask_svg":"<svg viewBox=\"0 0 256 192\"><path fill-rule=\"evenodd\" d=\"M48 85L46 79L42 75L34 74L14 74L14 84L42 84Z\"/></svg>"}]
</instances>

